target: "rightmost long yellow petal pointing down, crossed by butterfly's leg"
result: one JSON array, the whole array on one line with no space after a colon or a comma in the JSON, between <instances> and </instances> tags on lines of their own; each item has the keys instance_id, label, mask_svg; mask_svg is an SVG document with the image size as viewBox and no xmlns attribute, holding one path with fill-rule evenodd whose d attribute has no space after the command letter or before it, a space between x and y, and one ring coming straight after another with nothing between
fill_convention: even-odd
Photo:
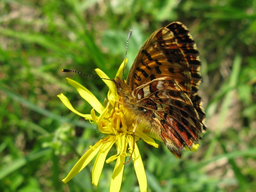
<instances>
[{"instance_id":1,"label":"rightmost long yellow petal pointing down, crossed by butterfly's leg","mask_svg":"<svg viewBox=\"0 0 256 192\"><path fill-rule=\"evenodd\" d=\"M133 148L133 137L128 135L127 136L127 140L129 143L129 148L130 148L130 152L132 152L132 148ZM141 192L146 192L147 191L147 178L146 178L146 173L144 170L144 166L142 163L142 159L140 156L140 151L138 149L138 146L135 142L135 147L134 147L134 152L132 154L132 160L133 160L133 164L134 164L134 169L138 178L138 182L139 182L139 186L140 186L140 191Z\"/></svg>"}]
</instances>

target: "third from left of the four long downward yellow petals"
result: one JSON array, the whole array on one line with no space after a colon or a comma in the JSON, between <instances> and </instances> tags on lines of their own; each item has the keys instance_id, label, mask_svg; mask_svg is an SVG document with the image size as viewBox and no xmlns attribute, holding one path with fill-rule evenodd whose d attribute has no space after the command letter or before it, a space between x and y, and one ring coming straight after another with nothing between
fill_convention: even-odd
<instances>
[{"instance_id":1,"label":"third from left of the four long downward yellow petals","mask_svg":"<svg viewBox=\"0 0 256 192\"><path fill-rule=\"evenodd\" d=\"M126 153L126 148L127 148L127 143L123 142L125 140L125 136L121 136L120 139L118 139L118 144L121 144L122 146L120 148L120 151L122 153ZM122 177L123 177L123 172L124 172L124 161L125 161L124 155L118 156L116 160L116 166L114 168L114 172L111 178L110 182L110 192L119 192L121 188L121 183L122 183Z\"/></svg>"}]
</instances>

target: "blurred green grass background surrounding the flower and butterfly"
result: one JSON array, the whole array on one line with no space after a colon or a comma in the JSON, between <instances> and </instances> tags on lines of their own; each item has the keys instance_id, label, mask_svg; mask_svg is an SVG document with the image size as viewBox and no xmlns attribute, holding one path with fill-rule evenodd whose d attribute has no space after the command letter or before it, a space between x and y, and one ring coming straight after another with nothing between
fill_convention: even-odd
<instances>
[{"instance_id":1,"label":"blurred green grass background surrounding the flower and butterfly","mask_svg":"<svg viewBox=\"0 0 256 192\"><path fill-rule=\"evenodd\" d=\"M94 160L61 182L100 133L57 94L86 114L92 107L66 77L102 103L108 91L100 79L61 69L96 75L100 68L114 78L132 29L127 75L143 42L174 21L189 28L200 52L208 132L198 152L185 152L182 160L161 143L157 149L139 141L148 192L255 192L255 0L0 1L0 191L109 191L115 162L104 165L98 186ZM121 191L139 191L132 163Z\"/></svg>"}]
</instances>

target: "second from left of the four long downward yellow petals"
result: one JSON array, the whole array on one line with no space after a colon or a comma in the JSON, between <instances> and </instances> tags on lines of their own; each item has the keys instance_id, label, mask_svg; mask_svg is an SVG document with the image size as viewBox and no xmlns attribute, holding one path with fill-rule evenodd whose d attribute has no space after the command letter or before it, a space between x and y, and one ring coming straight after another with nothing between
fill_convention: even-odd
<instances>
[{"instance_id":1,"label":"second from left of the four long downward yellow petals","mask_svg":"<svg viewBox=\"0 0 256 192\"><path fill-rule=\"evenodd\" d=\"M109 142L106 142L104 146L101 148L92 169L92 184L94 184L95 186L98 185L100 174L102 172L102 168L106 160L106 156L109 150L111 149L112 145L115 143L116 136L110 136L108 138L108 141Z\"/></svg>"}]
</instances>

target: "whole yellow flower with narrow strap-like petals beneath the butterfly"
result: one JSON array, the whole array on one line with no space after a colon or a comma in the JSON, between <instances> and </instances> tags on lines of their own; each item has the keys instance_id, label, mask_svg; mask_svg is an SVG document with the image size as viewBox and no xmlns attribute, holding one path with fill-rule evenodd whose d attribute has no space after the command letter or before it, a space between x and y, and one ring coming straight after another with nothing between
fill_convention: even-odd
<instances>
[{"instance_id":1,"label":"whole yellow flower with narrow strap-like petals beneath the butterfly","mask_svg":"<svg viewBox=\"0 0 256 192\"><path fill-rule=\"evenodd\" d=\"M126 62L127 60L121 64L116 74L116 76L120 79L122 78L122 70ZM100 69L96 69L96 72L101 78L109 79L109 77ZM82 98L84 98L93 107L91 114L81 114L80 112L76 111L70 104L68 98L66 98L66 96L63 94L58 95L58 97L72 112L84 117L87 120L92 120L95 122L98 125L100 132L107 134L107 136L94 144L94 146L90 146L90 149L80 158L80 160L78 160L78 162L69 172L68 176L62 181L67 183L76 174L78 174L92 160L92 158L96 156L96 154L98 154L92 169L92 184L97 186L106 156L110 148L115 144L117 153L108 158L106 163L116 160L116 166L114 168L110 183L110 192L119 191L122 182L125 158L126 156L130 156L133 149L132 130L135 123L134 118L132 117L132 114L128 114L128 112L122 107L122 104L116 103L116 101L119 101L120 96L117 94L114 82L110 80L103 80L109 88L108 103L104 107L84 86L69 78L67 78L67 80L70 85L76 88ZM96 110L96 112L98 112L100 115L96 116L94 110ZM158 144L156 144L151 138L155 136L150 134L151 132L149 130L146 130L143 125L139 124L135 131L135 141L141 138L148 144L158 147ZM127 153L127 149L129 150L130 154ZM138 178L140 191L144 192L147 189L147 180L136 142L134 145L134 152L132 153L132 160Z\"/></svg>"}]
</instances>

